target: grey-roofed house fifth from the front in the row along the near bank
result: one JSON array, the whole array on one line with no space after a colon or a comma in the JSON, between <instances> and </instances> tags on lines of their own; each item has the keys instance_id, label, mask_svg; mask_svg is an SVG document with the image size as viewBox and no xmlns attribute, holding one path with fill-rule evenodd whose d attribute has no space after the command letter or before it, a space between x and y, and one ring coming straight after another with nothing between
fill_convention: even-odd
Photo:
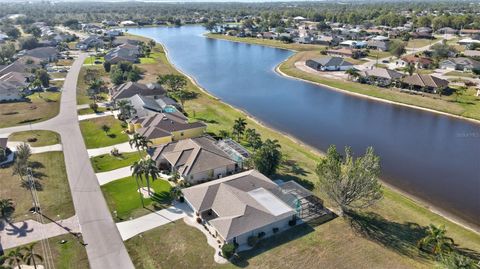
<instances>
[{"instance_id":1,"label":"grey-roofed house fifth from the front in the row along the near bank","mask_svg":"<svg viewBox=\"0 0 480 269\"><path fill-rule=\"evenodd\" d=\"M152 97L158 99L164 96L166 91L156 83L142 84L139 82L126 82L118 86L114 86L109 90L110 99L114 102L133 97L134 95L141 95L143 97Z\"/></svg>"}]
</instances>

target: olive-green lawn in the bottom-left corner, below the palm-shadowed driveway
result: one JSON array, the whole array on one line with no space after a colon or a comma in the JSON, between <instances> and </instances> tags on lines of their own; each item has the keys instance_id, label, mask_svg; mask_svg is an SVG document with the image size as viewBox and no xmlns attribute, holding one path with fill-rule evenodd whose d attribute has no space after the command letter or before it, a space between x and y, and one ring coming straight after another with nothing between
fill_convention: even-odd
<instances>
[{"instance_id":1,"label":"olive-green lawn in the bottom-left corner, below the palm-shadowed driveway","mask_svg":"<svg viewBox=\"0 0 480 269\"><path fill-rule=\"evenodd\" d=\"M66 243L61 243L65 240ZM55 268L58 269L85 269L89 268L87 251L78 239L70 234L59 235L48 239ZM28 246L28 245L27 245ZM5 254L8 255L9 249ZM42 245L37 242L33 251L40 254L44 259ZM37 265L44 265L44 262L37 260ZM22 268L24 268L22 266Z\"/></svg>"}]
</instances>

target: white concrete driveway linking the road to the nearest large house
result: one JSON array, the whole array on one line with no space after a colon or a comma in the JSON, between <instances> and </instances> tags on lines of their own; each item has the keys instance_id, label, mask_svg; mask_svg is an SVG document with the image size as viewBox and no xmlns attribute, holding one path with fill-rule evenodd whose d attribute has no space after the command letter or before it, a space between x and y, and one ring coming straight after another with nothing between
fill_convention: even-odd
<instances>
[{"instance_id":1,"label":"white concrete driveway linking the road to the nearest large house","mask_svg":"<svg viewBox=\"0 0 480 269\"><path fill-rule=\"evenodd\" d=\"M125 241L137 234L182 219L187 215L192 215L192 213L186 203L175 203L169 208L150 213L146 216L117 223L117 228L123 241Z\"/></svg>"}]
</instances>

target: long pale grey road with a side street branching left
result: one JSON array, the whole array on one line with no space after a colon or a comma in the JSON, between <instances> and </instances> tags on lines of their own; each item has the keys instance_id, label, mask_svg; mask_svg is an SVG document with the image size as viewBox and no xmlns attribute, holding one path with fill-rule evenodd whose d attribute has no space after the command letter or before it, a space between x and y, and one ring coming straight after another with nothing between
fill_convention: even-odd
<instances>
[{"instance_id":1,"label":"long pale grey road with a side street branching left","mask_svg":"<svg viewBox=\"0 0 480 269\"><path fill-rule=\"evenodd\" d=\"M67 74L59 114L50 120L0 129L1 134L26 130L51 130L62 137L65 165L83 240L92 269L134 268L112 219L90 164L77 116L77 80L87 54L80 54Z\"/></svg>"}]
</instances>

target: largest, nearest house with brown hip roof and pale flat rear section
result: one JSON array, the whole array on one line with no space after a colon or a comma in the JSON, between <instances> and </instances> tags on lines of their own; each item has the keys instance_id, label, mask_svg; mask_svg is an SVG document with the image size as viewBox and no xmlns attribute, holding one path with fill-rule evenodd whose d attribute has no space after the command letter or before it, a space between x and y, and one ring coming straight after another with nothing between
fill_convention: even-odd
<instances>
[{"instance_id":1,"label":"largest, nearest house with brown hip roof and pale flat rear section","mask_svg":"<svg viewBox=\"0 0 480 269\"><path fill-rule=\"evenodd\" d=\"M221 243L287 230L295 220L295 196L250 170L182 190L186 203Z\"/></svg>"}]
</instances>

